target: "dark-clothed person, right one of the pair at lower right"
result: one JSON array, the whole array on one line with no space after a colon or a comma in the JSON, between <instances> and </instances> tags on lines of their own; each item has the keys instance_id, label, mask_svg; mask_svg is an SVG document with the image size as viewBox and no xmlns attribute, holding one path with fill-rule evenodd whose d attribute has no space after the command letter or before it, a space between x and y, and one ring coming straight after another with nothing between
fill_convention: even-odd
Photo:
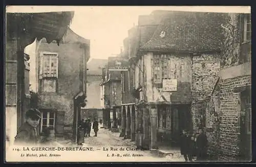
<instances>
[{"instance_id":1,"label":"dark-clothed person, right one of the pair at lower right","mask_svg":"<svg viewBox=\"0 0 256 167\"><path fill-rule=\"evenodd\" d=\"M207 136L203 133L202 129L198 130L199 135L196 138L197 147L197 161L205 161L207 158Z\"/></svg>"}]
</instances>

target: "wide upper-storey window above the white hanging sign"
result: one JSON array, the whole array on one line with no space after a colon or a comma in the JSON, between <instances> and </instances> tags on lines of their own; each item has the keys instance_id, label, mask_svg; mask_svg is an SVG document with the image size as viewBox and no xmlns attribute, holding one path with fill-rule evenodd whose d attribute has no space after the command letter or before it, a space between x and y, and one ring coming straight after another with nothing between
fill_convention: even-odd
<instances>
[{"instance_id":1,"label":"wide upper-storey window above the white hanging sign","mask_svg":"<svg viewBox=\"0 0 256 167\"><path fill-rule=\"evenodd\" d=\"M161 83L162 79L176 78L176 64L174 55L154 54L153 55L153 72L154 81Z\"/></svg>"}]
</instances>

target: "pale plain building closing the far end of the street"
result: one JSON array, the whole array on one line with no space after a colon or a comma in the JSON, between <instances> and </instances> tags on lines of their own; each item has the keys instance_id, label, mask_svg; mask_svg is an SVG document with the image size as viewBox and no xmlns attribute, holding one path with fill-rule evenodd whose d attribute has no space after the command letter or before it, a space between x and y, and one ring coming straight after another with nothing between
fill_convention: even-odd
<instances>
[{"instance_id":1,"label":"pale plain building closing the far end of the street","mask_svg":"<svg viewBox=\"0 0 256 167\"><path fill-rule=\"evenodd\" d=\"M101 105L101 76L102 68L108 63L106 59L92 59L87 64L87 105L81 109L81 117L93 120L97 118L98 121L103 119Z\"/></svg>"}]
</instances>

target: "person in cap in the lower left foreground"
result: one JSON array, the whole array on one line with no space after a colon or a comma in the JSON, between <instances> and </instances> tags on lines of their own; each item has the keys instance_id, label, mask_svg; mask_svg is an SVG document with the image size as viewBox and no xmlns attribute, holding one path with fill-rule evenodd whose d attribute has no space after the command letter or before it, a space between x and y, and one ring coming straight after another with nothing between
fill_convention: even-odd
<instances>
[{"instance_id":1,"label":"person in cap in the lower left foreground","mask_svg":"<svg viewBox=\"0 0 256 167\"><path fill-rule=\"evenodd\" d=\"M36 127L39 124L41 113L36 108L31 108L26 113L26 122L18 128L15 136L14 145L37 145Z\"/></svg>"}]
</instances>

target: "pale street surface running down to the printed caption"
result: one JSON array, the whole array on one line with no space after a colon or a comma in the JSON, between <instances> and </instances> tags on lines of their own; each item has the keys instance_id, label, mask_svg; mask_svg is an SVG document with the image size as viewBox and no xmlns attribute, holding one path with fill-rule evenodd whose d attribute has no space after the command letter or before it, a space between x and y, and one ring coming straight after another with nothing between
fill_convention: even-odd
<instances>
[{"instance_id":1,"label":"pale street surface running down to the printed caption","mask_svg":"<svg viewBox=\"0 0 256 167\"><path fill-rule=\"evenodd\" d=\"M158 157L150 152L150 150L136 150L136 147L129 144L127 141L122 141L122 138L116 137L111 131L99 129L98 136L94 137L93 130L90 137L84 138L83 147L93 147L94 155L100 156L100 161L182 161L181 157L166 156Z\"/></svg>"}]
</instances>

